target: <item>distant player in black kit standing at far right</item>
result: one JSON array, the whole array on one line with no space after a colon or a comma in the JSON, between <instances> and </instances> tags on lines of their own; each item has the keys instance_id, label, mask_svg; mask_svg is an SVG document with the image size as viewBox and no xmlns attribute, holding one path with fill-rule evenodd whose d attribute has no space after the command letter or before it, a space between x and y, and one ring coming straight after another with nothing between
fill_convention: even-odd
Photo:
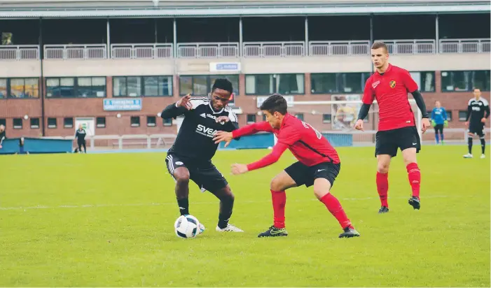
<instances>
[{"instance_id":1,"label":"distant player in black kit standing at far right","mask_svg":"<svg viewBox=\"0 0 491 288\"><path fill-rule=\"evenodd\" d=\"M480 96L480 89L474 88L474 98L469 100L469 103L467 104L467 115L465 124L466 127L469 127L469 130L467 130L469 153L465 154L464 158L472 158L472 137L474 135L477 135L480 138L480 146L483 152L483 154L480 155L480 158L485 158L484 150L486 147L486 141L484 133L484 123L486 122L486 118L488 117L490 117L490 106L487 103L486 99Z\"/></svg>"}]
</instances>

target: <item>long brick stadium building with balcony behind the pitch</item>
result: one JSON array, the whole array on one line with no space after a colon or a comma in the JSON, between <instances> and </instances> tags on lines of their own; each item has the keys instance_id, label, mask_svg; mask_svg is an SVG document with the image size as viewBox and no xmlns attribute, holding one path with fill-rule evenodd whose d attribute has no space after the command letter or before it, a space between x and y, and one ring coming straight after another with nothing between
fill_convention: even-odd
<instances>
[{"instance_id":1,"label":"long brick stadium building with balcony behind the pitch","mask_svg":"<svg viewBox=\"0 0 491 288\"><path fill-rule=\"evenodd\" d=\"M0 0L8 136L73 136L80 122L97 136L176 134L179 120L158 113L185 94L206 96L218 77L234 84L240 125L263 120L257 107L274 92L361 99L380 40L428 110L442 102L451 128L464 127L473 87L490 97L488 1L193 2ZM336 108L291 110L321 131L337 129ZM367 120L373 129L376 117Z\"/></svg>"}]
</instances>

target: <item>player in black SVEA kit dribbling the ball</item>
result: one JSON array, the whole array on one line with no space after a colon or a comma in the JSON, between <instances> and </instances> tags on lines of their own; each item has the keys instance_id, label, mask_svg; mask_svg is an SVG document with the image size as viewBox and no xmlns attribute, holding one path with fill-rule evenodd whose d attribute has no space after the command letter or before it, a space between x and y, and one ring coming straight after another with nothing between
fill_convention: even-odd
<instances>
[{"instance_id":1,"label":"player in black SVEA kit dribbling the ball","mask_svg":"<svg viewBox=\"0 0 491 288\"><path fill-rule=\"evenodd\" d=\"M175 191L181 215L189 214L188 185L191 179L202 192L208 190L220 199L219 222L216 226L219 232L243 232L228 223L234 195L227 180L212 164L212 157L218 147L213 141L216 131L233 131L239 127L237 115L227 106L232 94L230 81L216 79L208 97L191 98L188 94L177 103L167 106L160 115L164 119L184 115L176 141L165 159L167 170L176 181Z\"/></svg>"}]
</instances>

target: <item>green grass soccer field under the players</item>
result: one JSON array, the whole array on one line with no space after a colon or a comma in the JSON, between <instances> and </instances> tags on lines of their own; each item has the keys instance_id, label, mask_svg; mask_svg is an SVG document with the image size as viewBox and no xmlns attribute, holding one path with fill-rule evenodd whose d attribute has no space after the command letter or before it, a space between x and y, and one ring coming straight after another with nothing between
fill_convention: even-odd
<instances>
[{"instance_id":1,"label":"green grass soccer field under the players","mask_svg":"<svg viewBox=\"0 0 491 288\"><path fill-rule=\"evenodd\" d=\"M230 222L245 233L216 232L219 202L192 183L190 212L207 231L187 240L174 234L165 153L0 157L0 286L490 287L489 159L424 147L422 209L413 210L399 155L390 212L378 215L373 148L340 148L331 192L361 237L339 239L336 219L299 187L287 192L289 236L259 239L272 224L270 180L293 157L240 176L229 167L267 152L214 158L235 193Z\"/></svg>"}]
</instances>

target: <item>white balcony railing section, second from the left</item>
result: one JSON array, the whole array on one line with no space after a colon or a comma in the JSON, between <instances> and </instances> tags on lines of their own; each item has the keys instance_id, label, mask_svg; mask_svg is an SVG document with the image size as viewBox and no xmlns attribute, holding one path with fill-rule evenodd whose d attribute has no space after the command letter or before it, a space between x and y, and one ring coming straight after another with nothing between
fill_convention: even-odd
<instances>
[{"instance_id":1,"label":"white balcony railing section, second from the left","mask_svg":"<svg viewBox=\"0 0 491 288\"><path fill-rule=\"evenodd\" d=\"M106 44L44 45L44 59L106 59Z\"/></svg>"}]
</instances>

